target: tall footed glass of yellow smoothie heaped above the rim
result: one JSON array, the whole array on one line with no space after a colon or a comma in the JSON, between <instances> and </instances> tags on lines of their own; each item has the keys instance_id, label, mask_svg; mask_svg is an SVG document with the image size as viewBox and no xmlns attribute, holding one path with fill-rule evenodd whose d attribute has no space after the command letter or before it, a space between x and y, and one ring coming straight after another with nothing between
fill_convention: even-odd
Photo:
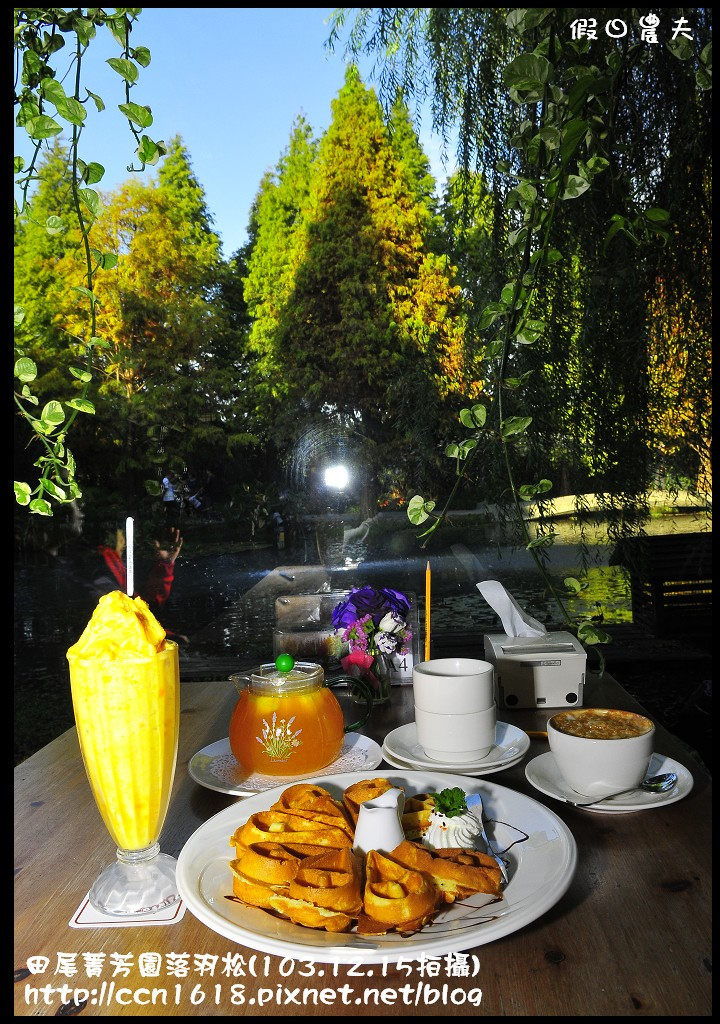
<instances>
[{"instance_id":1,"label":"tall footed glass of yellow smoothie heaped above the rim","mask_svg":"<svg viewBox=\"0 0 720 1024\"><path fill-rule=\"evenodd\" d=\"M177 644L141 598L114 591L68 662L85 770L118 848L90 902L110 914L150 913L180 898L175 859L158 842L177 758Z\"/></svg>"}]
</instances>

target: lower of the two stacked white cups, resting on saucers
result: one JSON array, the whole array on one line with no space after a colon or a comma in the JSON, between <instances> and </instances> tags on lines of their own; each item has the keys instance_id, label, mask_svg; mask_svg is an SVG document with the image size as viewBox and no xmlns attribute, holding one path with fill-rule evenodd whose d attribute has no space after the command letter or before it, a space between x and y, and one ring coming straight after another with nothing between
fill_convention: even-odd
<instances>
[{"instance_id":1,"label":"lower of the two stacked white cups, resting on saucers","mask_svg":"<svg viewBox=\"0 0 720 1024\"><path fill-rule=\"evenodd\" d=\"M415 706L418 742L432 761L468 764L486 757L495 744L495 705L462 715L437 715Z\"/></svg>"}]
</instances>

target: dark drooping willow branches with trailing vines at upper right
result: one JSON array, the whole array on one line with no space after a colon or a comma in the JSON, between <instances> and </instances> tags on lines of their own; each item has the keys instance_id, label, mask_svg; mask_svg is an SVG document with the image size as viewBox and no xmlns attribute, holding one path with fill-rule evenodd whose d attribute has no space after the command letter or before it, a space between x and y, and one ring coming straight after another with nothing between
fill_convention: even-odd
<instances>
[{"instance_id":1,"label":"dark drooping willow branches with trailing vines at upper right","mask_svg":"<svg viewBox=\"0 0 720 1024\"><path fill-rule=\"evenodd\" d=\"M331 42L347 10L335 12ZM604 14L593 12L598 25ZM637 20L635 10L628 14ZM505 481L499 486L509 485L543 573L552 534L531 540L520 503L552 484L543 476L542 486L518 485L519 473L535 475L555 462L563 475L575 473L565 493L591 483L625 505L644 501L654 455L645 386L648 296L673 227L682 233L672 225L670 196L703 204L703 188L691 191L680 175L674 191L664 188L669 154L682 154L686 167L695 159L689 142L674 145L683 121L703 138L696 158L704 175L710 154L698 117L707 103L691 77L696 71L701 89L710 83L707 9L693 11L698 43L667 49L574 40L575 16L574 8L364 8L347 45L350 54L379 55L386 102L398 87L412 95L415 82L422 97L430 83L433 125L443 138L458 127L463 171L479 170L488 180L505 253L499 295L472 323L484 347L488 415L480 425L469 411L461 414L471 436L444 449L456 483L420 536L446 519L475 466L486 487L495 446ZM704 403L700 392L697 400ZM702 445L707 420L698 426ZM412 521L429 512L416 496ZM594 626L582 630L597 642Z\"/></svg>"}]
</instances>

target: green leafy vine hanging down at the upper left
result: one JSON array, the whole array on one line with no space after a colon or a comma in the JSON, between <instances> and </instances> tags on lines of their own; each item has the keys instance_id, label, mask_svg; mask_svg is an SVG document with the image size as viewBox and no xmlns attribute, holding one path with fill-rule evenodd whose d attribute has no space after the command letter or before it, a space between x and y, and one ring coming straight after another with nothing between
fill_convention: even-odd
<instances>
[{"instance_id":1,"label":"green leafy vine hanging down at the upper left","mask_svg":"<svg viewBox=\"0 0 720 1024\"><path fill-rule=\"evenodd\" d=\"M75 459L68 447L67 437L80 414L92 415L95 411L89 397L93 350L107 346L95 330L95 275L117 264L114 253L100 252L91 241L92 225L101 210L100 196L92 186L102 179L104 168L96 161L80 157L80 139L89 104L93 104L98 112L104 110L102 98L83 82L83 60L97 28L104 26L120 47L120 56L111 57L108 63L124 83L125 98L118 104L118 110L126 118L136 143L135 157L139 166L130 165L128 171L143 171L147 165L156 164L166 152L164 142L153 141L144 134L153 124L150 108L131 99L131 90L139 76L138 69L146 68L151 62L146 47L130 44L131 29L140 11L140 7L116 7L112 11L99 7L84 10L14 8L15 125L26 130L33 147L27 165L22 157L14 158L15 186L20 196L19 203L15 200L15 217L33 217L29 196L38 179L39 158L47 140L56 138L70 126L67 183L81 236L85 283L82 286L69 285L69 288L72 287L78 300L85 303L87 311L84 335L75 336L71 342L81 364L70 368L73 378L80 383L79 393L72 398L51 399L38 410L38 398L31 390L38 367L25 354L22 345L15 343L15 411L29 429L29 444L40 450L34 463L38 479L35 485L15 480L15 501L27 507L29 512L39 515L52 515L52 503L63 504L81 497ZM57 68L60 51L68 53L65 71ZM68 81L70 89L66 84ZM63 234L69 227L69 223L57 215L49 216L45 223L49 234ZM16 305L15 329L25 317L25 309Z\"/></svg>"}]
</instances>

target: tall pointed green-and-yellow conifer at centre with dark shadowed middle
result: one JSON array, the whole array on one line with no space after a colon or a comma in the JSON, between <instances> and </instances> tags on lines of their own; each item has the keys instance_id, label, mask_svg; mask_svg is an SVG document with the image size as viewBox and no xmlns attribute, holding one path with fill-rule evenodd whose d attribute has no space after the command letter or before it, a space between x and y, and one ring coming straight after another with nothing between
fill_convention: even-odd
<instances>
[{"instance_id":1,"label":"tall pointed green-and-yellow conifer at centre with dark shadowed middle","mask_svg":"<svg viewBox=\"0 0 720 1024\"><path fill-rule=\"evenodd\" d=\"M299 422L314 420L358 439L369 513L380 470L394 472L403 489L420 435L472 381L464 379L459 289L452 267L428 248L431 189L417 140L398 145L396 133L393 144L354 68L332 113L300 216L278 234L290 239L287 273L277 279L282 301L270 281L253 293L252 338L284 399L288 438ZM249 261L251 285L259 251ZM263 303L272 301L270 314Z\"/></svg>"}]
</instances>

